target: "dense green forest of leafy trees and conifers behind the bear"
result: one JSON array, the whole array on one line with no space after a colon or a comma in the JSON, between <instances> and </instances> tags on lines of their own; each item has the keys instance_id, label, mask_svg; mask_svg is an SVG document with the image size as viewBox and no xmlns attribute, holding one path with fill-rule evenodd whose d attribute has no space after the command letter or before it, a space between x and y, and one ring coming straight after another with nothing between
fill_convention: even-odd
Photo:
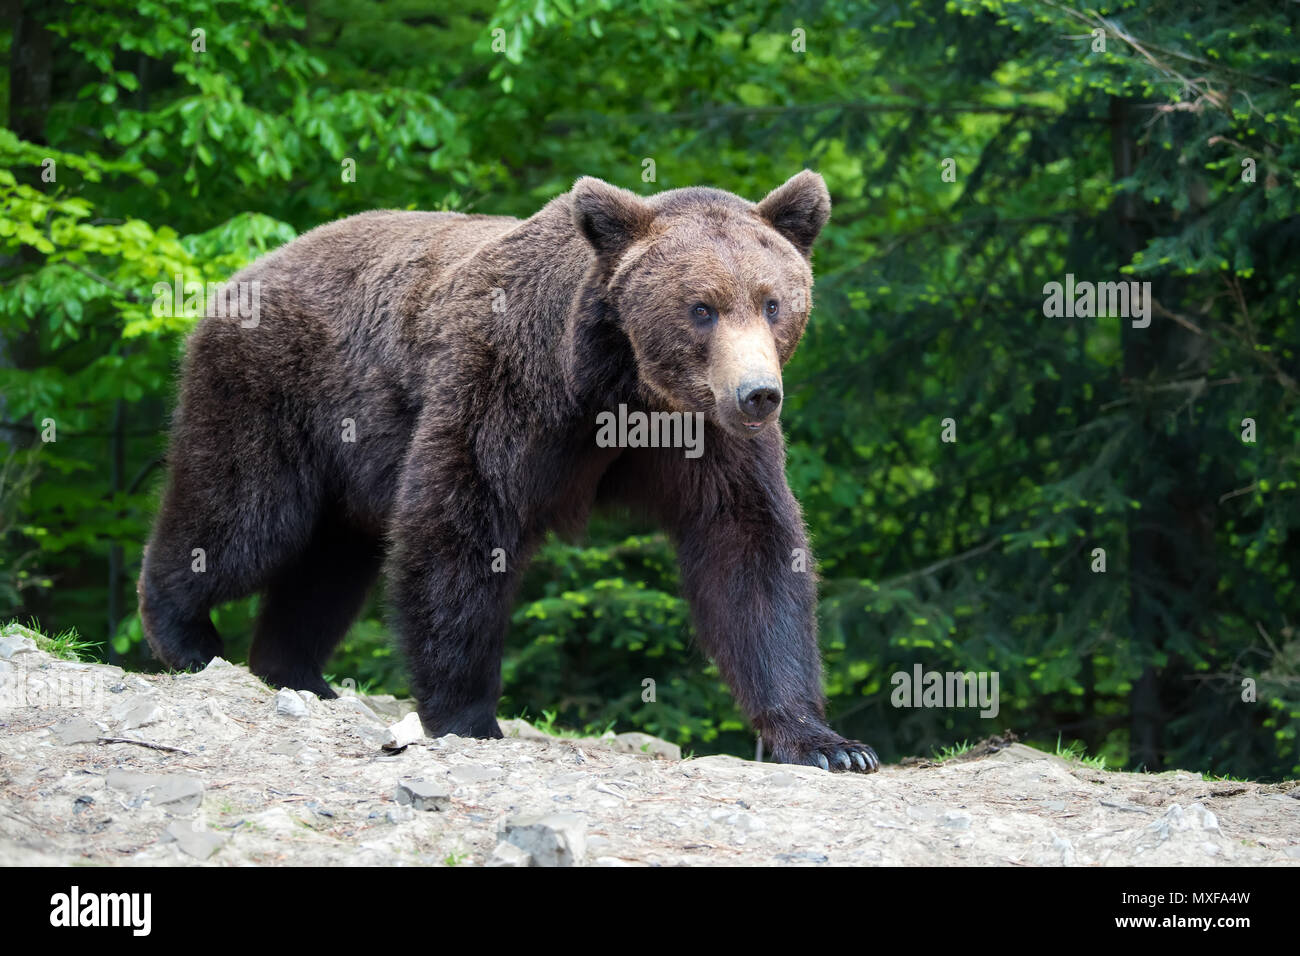
<instances>
[{"instance_id":1,"label":"dense green forest of leafy trees and conifers behind the bear","mask_svg":"<svg viewBox=\"0 0 1300 956\"><path fill-rule=\"evenodd\" d=\"M1300 771L1300 4L4 7L0 622L155 666L134 581L192 325L156 282L363 209L810 166L835 211L784 421L835 726ZM1149 281L1150 325L1046 317L1067 273ZM255 610L216 614L233 659ZM404 691L384 619L335 680ZM915 663L998 671L1001 713L894 709ZM504 676L506 715L753 749L653 528L549 544Z\"/></svg>"}]
</instances>

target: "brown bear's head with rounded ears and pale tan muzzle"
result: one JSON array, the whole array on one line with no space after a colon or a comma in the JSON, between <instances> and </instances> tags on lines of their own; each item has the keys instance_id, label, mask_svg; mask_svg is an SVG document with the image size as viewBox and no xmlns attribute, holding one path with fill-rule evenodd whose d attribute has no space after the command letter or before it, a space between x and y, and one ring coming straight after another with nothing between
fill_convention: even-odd
<instances>
[{"instance_id":1,"label":"brown bear's head with rounded ears and pale tan muzzle","mask_svg":"<svg viewBox=\"0 0 1300 956\"><path fill-rule=\"evenodd\" d=\"M803 170L759 203L714 189L642 199L584 177L572 213L644 398L733 434L774 423L812 304L812 241L831 216L822 177Z\"/></svg>"}]
</instances>

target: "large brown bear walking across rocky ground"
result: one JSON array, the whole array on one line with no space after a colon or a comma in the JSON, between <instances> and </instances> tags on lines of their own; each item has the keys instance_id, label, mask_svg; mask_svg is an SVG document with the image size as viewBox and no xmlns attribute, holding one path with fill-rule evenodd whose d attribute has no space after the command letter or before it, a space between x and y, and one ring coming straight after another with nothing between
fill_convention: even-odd
<instances>
[{"instance_id":1,"label":"large brown bear walking across rocky ground","mask_svg":"<svg viewBox=\"0 0 1300 956\"><path fill-rule=\"evenodd\" d=\"M547 531L630 506L675 541L774 758L875 770L826 722L777 423L829 212L809 170L757 204L581 178L523 221L368 212L254 263L188 339L139 583L155 653L203 667L212 606L263 592L250 667L333 697L322 665L385 568L425 728L497 737L520 570ZM615 411L685 416L696 447L598 440Z\"/></svg>"}]
</instances>

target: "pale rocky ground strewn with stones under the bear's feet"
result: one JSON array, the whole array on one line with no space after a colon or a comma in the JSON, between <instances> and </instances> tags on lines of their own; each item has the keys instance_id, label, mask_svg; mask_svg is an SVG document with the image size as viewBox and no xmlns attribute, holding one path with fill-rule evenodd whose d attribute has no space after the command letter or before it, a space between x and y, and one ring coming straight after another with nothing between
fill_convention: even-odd
<instances>
[{"instance_id":1,"label":"pale rocky ground strewn with stones under the bear's feet","mask_svg":"<svg viewBox=\"0 0 1300 956\"><path fill-rule=\"evenodd\" d=\"M993 740L870 777L640 734L432 740L407 701L140 675L0 636L4 865L1297 865L1300 783Z\"/></svg>"}]
</instances>

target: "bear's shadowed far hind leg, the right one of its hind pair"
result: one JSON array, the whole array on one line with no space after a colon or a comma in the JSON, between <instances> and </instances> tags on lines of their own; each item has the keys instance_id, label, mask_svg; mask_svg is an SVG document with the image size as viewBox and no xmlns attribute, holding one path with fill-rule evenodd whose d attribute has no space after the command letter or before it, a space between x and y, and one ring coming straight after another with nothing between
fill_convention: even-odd
<instances>
[{"instance_id":1,"label":"bear's shadowed far hind leg, the right one of its hind pair","mask_svg":"<svg viewBox=\"0 0 1300 956\"><path fill-rule=\"evenodd\" d=\"M266 585L248 669L273 687L335 697L321 669L361 610L381 562L378 537L322 518L307 549Z\"/></svg>"}]
</instances>

